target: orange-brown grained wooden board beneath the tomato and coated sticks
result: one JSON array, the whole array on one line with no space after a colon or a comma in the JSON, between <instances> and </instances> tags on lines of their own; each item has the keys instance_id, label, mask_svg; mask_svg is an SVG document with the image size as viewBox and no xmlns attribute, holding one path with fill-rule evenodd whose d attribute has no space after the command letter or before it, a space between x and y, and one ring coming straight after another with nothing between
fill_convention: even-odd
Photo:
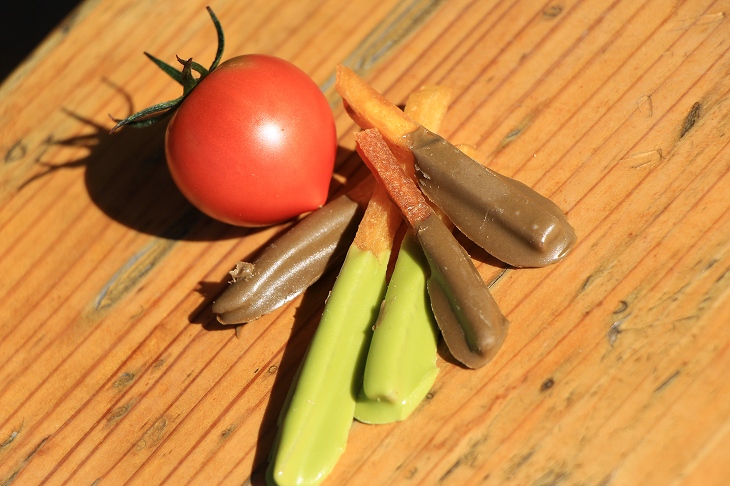
<instances>
[{"instance_id":1,"label":"orange-brown grained wooden board beneath the tomato and coated sticks","mask_svg":"<svg viewBox=\"0 0 730 486\"><path fill-rule=\"evenodd\" d=\"M212 59L201 2L89 0L0 87L0 484L261 484L334 276L245 326L209 305L286 225L225 226L176 191L177 96L142 55ZM495 267L511 321L488 366L443 351L412 417L354 423L329 484L727 484L730 2L214 0L225 57L298 64L332 102L341 189L362 174L344 62L396 104L454 88L443 125L551 197L579 242ZM500 277L501 275L501 277Z\"/></svg>"}]
</instances>

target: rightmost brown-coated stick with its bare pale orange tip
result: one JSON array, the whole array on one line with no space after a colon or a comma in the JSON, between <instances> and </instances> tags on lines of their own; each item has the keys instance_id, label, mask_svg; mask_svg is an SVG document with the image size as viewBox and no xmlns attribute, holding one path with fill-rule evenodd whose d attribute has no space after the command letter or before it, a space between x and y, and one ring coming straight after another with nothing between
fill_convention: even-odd
<instances>
[{"instance_id":1,"label":"rightmost brown-coated stick with its bare pale orange tip","mask_svg":"<svg viewBox=\"0 0 730 486\"><path fill-rule=\"evenodd\" d=\"M356 123L377 128L399 158L415 156L424 193L495 258L515 267L545 266L575 244L554 203L430 134L344 66L337 69L337 90Z\"/></svg>"}]
</instances>

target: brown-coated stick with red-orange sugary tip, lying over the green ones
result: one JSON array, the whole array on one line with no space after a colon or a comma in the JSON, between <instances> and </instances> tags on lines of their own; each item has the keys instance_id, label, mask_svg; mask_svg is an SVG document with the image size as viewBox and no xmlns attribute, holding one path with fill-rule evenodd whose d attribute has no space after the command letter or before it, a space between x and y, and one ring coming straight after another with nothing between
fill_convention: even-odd
<instances>
[{"instance_id":1,"label":"brown-coated stick with red-orange sugary tip, lying over the green ones","mask_svg":"<svg viewBox=\"0 0 730 486\"><path fill-rule=\"evenodd\" d=\"M452 355L470 368L488 363L507 333L507 319L451 231L398 166L377 129L355 135L358 151L413 228L431 269L428 294Z\"/></svg>"}]
</instances>

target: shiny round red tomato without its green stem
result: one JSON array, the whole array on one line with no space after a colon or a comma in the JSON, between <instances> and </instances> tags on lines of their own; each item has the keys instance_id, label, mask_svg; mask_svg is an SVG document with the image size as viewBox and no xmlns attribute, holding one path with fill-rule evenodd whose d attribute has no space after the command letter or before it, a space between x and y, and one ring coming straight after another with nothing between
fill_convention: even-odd
<instances>
[{"instance_id":1,"label":"shiny round red tomato without its green stem","mask_svg":"<svg viewBox=\"0 0 730 486\"><path fill-rule=\"evenodd\" d=\"M185 197L239 226L278 223L324 204L336 149L319 87L293 64L258 54L230 59L203 79L165 139Z\"/></svg>"}]
</instances>

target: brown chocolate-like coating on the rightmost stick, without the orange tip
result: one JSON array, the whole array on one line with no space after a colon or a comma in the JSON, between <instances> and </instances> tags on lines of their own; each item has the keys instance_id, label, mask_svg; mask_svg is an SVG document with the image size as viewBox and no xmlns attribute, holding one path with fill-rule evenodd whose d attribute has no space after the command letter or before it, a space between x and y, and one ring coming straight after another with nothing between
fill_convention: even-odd
<instances>
[{"instance_id":1,"label":"brown chocolate-like coating on the rightmost stick, without the orange tip","mask_svg":"<svg viewBox=\"0 0 730 486\"><path fill-rule=\"evenodd\" d=\"M573 248L573 228L546 197L423 127L407 140L423 193L491 255L515 267L544 267Z\"/></svg>"}]
</instances>

